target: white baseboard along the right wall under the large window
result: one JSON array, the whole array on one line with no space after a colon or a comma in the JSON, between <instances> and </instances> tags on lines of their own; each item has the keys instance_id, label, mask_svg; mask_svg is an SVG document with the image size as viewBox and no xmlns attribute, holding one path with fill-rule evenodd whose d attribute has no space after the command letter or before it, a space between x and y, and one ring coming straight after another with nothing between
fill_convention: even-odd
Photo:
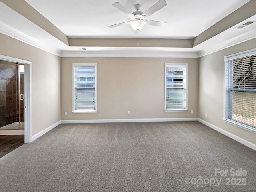
<instances>
[{"instance_id":1,"label":"white baseboard along the right wall under the large window","mask_svg":"<svg viewBox=\"0 0 256 192\"><path fill-rule=\"evenodd\" d=\"M202 124L205 124L206 126L212 128L212 129L228 136L229 138L232 138L233 140L235 140L235 141L237 141L237 142L239 142L239 143L241 143L241 144L243 144L243 145L245 145L245 146L247 146L247 147L256 151L256 145L255 144L253 144L253 143L251 143L251 142L249 142L249 141L247 141L243 138L240 138L240 137L238 137L238 136L236 136L236 135L234 135L234 134L232 134L232 133L230 133L226 130L223 130L222 128L219 128L219 127L217 127L213 124L210 124L210 123L206 122L205 120L202 120L202 119L198 118L198 121L201 122Z\"/></svg>"}]
</instances>

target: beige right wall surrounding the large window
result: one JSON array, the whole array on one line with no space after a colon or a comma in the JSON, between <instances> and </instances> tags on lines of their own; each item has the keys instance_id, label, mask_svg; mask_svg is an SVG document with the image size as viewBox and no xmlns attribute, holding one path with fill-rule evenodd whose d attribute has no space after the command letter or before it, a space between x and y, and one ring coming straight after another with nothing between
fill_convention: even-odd
<instances>
[{"instance_id":1,"label":"beige right wall surrounding the large window","mask_svg":"<svg viewBox=\"0 0 256 192\"><path fill-rule=\"evenodd\" d=\"M222 120L224 56L256 48L256 39L199 58L198 118L256 144L256 134ZM207 113L207 117L205 117Z\"/></svg>"}]
</instances>

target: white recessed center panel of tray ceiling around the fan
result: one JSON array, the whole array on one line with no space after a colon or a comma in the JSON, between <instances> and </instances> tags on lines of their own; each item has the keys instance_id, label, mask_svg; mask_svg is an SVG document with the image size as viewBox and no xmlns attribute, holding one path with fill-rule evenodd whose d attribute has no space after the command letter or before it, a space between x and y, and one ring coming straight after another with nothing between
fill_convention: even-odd
<instances>
[{"instance_id":1,"label":"white recessed center panel of tray ceiling around the fan","mask_svg":"<svg viewBox=\"0 0 256 192\"><path fill-rule=\"evenodd\" d=\"M141 4L146 11L158 0L26 0L68 37L136 37L130 25L109 25L130 21L112 4L120 2L130 12ZM146 25L140 38L194 38L232 13L248 0L167 0L167 6L148 17L167 22L164 27Z\"/></svg>"}]
</instances>

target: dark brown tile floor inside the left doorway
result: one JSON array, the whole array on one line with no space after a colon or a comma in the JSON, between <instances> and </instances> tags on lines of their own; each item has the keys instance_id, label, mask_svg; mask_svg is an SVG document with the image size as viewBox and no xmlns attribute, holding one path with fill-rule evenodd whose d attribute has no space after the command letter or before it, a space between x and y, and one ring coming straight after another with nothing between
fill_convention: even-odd
<instances>
[{"instance_id":1,"label":"dark brown tile floor inside the left doorway","mask_svg":"<svg viewBox=\"0 0 256 192\"><path fill-rule=\"evenodd\" d=\"M24 135L1 135L0 158L24 144Z\"/></svg>"}]
</instances>

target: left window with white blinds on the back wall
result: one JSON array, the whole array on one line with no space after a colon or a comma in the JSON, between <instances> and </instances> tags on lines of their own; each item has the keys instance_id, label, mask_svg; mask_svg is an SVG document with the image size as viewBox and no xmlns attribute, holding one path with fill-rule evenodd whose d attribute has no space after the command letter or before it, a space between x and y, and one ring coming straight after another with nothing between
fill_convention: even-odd
<instances>
[{"instance_id":1,"label":"left window with white blinds on the back wall","mask_svg":"<svg viewBox=\"0 0 256 192\"><path fill-rule=\"evenodd\" d=\"M97 112L96 64L73 63L73 111Z\"/></svg>"}]
</instances>

